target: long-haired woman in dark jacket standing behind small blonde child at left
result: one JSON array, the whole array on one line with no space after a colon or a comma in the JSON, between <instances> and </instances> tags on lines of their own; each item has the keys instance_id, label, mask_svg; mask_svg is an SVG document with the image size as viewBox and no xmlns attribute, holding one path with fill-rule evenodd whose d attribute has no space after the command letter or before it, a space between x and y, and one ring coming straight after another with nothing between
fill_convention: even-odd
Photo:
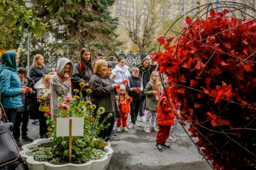
<instances>
[{"instance_id":1,"label":"long-haired woman in dark jacket standing behind small blonde child at left","mask_svg":"<svg viewBox=\"0 0 256 170\"><path fill-rule=\"evenodd\" d=\"M42 79L42 76L44 74L48 74L49 70L46 65L44 65L44 57L41 54L36 54L36 56L33 57L33 63L31 65L31 70L29 72L29 76L33 81L36 83L40 79ZM39 105L38 102L36 102L36 97L34 99L34 111L31 114L31 120L33 120L33 125L39 125L39 118L37 111L38 111Z\"/></svg>"}]
</instances>

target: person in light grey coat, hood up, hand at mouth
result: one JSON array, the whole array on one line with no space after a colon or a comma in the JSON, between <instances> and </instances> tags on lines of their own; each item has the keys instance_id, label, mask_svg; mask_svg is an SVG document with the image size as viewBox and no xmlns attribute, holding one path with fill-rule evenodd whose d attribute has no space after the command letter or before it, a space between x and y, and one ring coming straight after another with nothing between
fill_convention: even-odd
<instances>
[{"instance_id":1,"label":"person in light grey coat, hood up, hand at mouth","mask_svg":"<svg viewBox=\"0 0 256 170\"><path fill-rule=\"evenodd\" d=\"M58 98L71 96L71 79L73 73L73 65L69 59L60 58L57 62L57 73L51 78L51 117L57 118L58 114Z\"/></svg>"}]
</instances>

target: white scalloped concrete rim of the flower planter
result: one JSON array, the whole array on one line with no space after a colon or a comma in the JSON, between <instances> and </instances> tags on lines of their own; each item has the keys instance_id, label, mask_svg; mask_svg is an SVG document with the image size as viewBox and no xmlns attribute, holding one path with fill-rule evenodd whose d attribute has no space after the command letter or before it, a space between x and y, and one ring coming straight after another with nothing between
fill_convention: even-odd
<instances>
[{"instance_id":1,"label":"white scalloped concrete rim of the flower planter","mask_svg":"<svg viewBox=\"0 0 256 170\"><path fill-rule=\"evenodd\" d=\"M39 144L41 143L47 143L49 141L49 139L39 139L39 140L34 140L33 143L29 143L25 146L22 146L22 149L23 151L20 151L20 153L22 154L22 157L25 157L27 158L27 163L28 164L32 164L32 165L36 165L36 164L44 164L45 166L49 166L51 168L60 168L60 167L64 167L64 166L74 166L74 167L79 167L79 166L89 166L90 164L92 163L97 163L97 162L102 162L102 161L107 161L107 165L105 166L105 169L106 167L108 166L109 164L109 160L110 158L112 157L112 153L113 153L113 149L110 147L110 144L108 146L106 146L104 148L104 150L106 151L106 155L105 157L103 157L102 159L100 160L90 160L89 162L87 163L82 163L82 164L74 164L74 163L66 163L66 164L62 164L62 165L54 165L54 164L51 164L47 161L37 161L37 160L33 160L33 157L32 156L28 156L26 153L31 149L33 148L33 146L38 146Z\"/></svg>"}]
</instances>

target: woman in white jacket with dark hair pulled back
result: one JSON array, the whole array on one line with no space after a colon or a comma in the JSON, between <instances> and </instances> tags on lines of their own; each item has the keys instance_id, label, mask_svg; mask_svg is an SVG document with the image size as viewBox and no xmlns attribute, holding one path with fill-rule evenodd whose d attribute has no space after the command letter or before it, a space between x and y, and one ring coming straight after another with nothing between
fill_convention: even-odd
<instances>
[{"instance_id":1,"label":"woman in white jacket with dark hair pulled back","mask_svg":"<svg viewBox=\"0 0 256 170\"><path fill-rule=\"evenodd\" d=\"M119 85L128 85L128 78L131 75L128 71L129 66L125 65L124 57L118 58L118 65L115 66L113 72L115 72L115 83Z\"/></svg>"}]
</instances>

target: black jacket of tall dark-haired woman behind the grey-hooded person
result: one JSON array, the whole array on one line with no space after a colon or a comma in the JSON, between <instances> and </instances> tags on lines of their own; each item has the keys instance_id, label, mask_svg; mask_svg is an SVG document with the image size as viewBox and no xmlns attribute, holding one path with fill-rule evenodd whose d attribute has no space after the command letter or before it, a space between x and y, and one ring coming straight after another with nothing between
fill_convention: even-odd
<instances>
[{"instance_id":1,"label":"black jacket of tall dark-haired woman behind the grey-hooded person","mask_svg":"<svg viewBox=\"0 0 256 170\"><path fill-rule=\"evenodd\" d=\"M80 91L80 89L81 89L80 85L79 85L80 82L89 83L89 80L93 76L93 73L91 70L91 62L86 62L86 68L87 68L86 73L79 72L79 63L77 62L74 64L73 74L71 76L71 82L74 85L74 89L77 89ZM83 97L88 96L88 93L86 92L87 88L88 88L88 86L86 86L82 90Z\"/></svg>"}]
</instances>

